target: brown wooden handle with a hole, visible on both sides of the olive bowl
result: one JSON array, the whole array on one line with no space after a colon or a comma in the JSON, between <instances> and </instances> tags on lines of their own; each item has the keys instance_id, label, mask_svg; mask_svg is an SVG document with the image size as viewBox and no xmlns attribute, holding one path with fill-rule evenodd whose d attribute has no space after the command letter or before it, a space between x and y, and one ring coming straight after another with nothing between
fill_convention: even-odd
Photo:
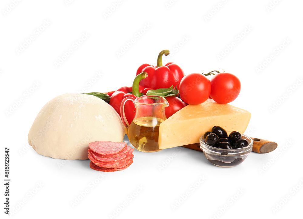
<instances>
[{"instance_id":1,"label":"brown wooden handle with a hole, visible on both sides of the olive bowl","mask_svg":"<svg viewBox=\"0 0 303 219\"><path fill-rule=\"evenodd\" d=\"M251 138L251 139L254 141L254 144L252 145L252 151L257 153L268 153L275 150L278 146L277 143L272 141L263 140L259 138ZM200 149L200 143L183 145L182 147L186 147L192 150L202 151Z\"/></svg>"}]
</instances>

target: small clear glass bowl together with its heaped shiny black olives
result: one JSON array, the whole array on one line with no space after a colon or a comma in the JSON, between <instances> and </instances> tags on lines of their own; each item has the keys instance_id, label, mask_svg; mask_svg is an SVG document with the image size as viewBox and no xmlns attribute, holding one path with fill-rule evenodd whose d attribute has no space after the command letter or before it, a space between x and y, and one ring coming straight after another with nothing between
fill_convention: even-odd
<instances>
[{"instance_id":1,"label":"small clear glass bowl together with its heaped shiny black olives","mask_svg":"<svg viewBox=\"0 0 303 219\"><path fill-rule=\"evenodd\" d=\"M250 137L237 131L228 136L220 126L214 126L200 137L200 148L206 159L218 167L235 167L242 163L251 152L253 143Z\"/></svg>"}]
</instances>

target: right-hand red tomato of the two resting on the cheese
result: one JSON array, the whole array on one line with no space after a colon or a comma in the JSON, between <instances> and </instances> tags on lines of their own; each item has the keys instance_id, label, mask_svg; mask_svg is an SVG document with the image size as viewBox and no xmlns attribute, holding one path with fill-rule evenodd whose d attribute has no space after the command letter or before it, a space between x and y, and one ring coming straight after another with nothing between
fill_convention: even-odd
<instances>
[{"instance_id":1,"label":"right-hand red tomato of the two resting on the cheese","mask_svg":"<svg viewBox=\"0 0 303 219\"><path fill-rule=\"evenodd\" d=\"M240 80L231 73L218 73L210 82L210 96L217 103L226 104L234 101L241 90Z\"/></svg>"}]
</instances>

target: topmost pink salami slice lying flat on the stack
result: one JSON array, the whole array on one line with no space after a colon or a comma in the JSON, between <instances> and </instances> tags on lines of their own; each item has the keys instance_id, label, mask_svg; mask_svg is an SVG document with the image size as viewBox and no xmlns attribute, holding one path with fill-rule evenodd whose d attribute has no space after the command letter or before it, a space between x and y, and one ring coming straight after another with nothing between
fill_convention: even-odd
<instances>
[{"instance_id":1,"label":"topmost pink salami slice lying flat on the stack","mask_svg":"<svg viewBox=\"0 0 303 219\"><path fill-rule=\"evenodd\" d=\"M125 142L112 142L112 141L95 141L88 144L88 147L100 155L113 155L118 154L127 148ZM129 146L128 146L129 147Z\"/></svg>"}]
</instances>

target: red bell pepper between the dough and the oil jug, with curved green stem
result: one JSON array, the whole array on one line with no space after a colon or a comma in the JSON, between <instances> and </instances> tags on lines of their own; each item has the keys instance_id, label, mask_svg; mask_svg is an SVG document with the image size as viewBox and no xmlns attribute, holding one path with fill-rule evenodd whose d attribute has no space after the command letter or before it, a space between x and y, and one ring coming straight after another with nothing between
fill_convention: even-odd
<instances>
[{"instance_id":1,"label":"red bell pepper between the dough and the oil jug, with curved green stem","mask_svg":"<svg viewBox=\"0 0 303 219\"><path fill-rule=\"evenodd\" d=\"M112 94L109 104L116 110L116 112L120 116L121 102L125 97L131 96L133 98L137 98L143 95L143 93L141 92L143 91L144 87L139 86L139 82L141 79L145 79L147 76L148 74L146 72L142 72L141 74L135 77L132 87L121 87L116 90L115 93ZM133 103L126 103L125 109L125 116L128 121L128 124L130 124L133 118L135 117L135 105Z\"/></svg>"}]
</instances>

